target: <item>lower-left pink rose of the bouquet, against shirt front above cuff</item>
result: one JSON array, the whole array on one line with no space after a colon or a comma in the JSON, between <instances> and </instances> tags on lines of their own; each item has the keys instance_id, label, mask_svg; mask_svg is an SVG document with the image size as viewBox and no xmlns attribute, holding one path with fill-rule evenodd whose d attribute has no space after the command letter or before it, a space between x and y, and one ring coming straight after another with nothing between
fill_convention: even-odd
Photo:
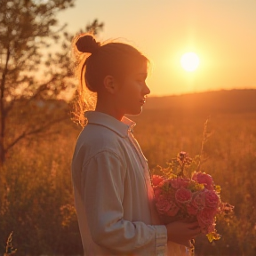
<instances>
[{"instance_id":1,"label":"lower-left pink rose of the bouquet, against shirt front above cuff","mask_svg":"<svg viewBox=\"0 0 256 256\"><path fill-rule=\"evenodd\" d=\"M156 199L156 208L160 214L175 216L179 212L179 207L174 204L172 198L159 196Z\"/></svg>"}]
</instances>

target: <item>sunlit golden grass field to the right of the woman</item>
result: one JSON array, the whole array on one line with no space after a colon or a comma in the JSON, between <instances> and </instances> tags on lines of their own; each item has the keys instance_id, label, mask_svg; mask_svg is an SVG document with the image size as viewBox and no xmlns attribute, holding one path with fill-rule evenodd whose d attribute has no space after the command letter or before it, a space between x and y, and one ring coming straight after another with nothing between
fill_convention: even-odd
<instances>
[{"instance_id":1,"label":"sunlit golden grass field to the right of the woman","mask_svg":"<svg viewBox=\"0 0 256 256\"><path fill-rule=\"evenodd\" d=\"M196 255L255 255L256 113L215 112L209 117L151 109L137 117L134 133L154 172L157 164L166 166L180 151L192 157L200 154L206 119L211 135L204 144L207 161L202 171L220 185L222 200L235 205L235 214L228 222L217 222L220 241L209 244L204 236L196 239Z\"/></svg>"}]
</instances>

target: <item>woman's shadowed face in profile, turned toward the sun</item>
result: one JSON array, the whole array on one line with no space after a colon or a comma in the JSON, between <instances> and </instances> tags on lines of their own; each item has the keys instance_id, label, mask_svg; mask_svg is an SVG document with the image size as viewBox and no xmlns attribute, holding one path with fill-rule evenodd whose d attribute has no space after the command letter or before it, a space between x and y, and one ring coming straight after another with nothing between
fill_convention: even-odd
<instances>
[{"instance_id":1,"label":"woman's shadowed face in profile, turned toward the sun","mask_svg":"<svg viewBox=\"0 0 256 256\"><path fill-rule=\"evenodd\" d=\"M116 108L120 115L139 115L146 102L146 95L150 90L146 84L148 76L148 62L145 60L138 68L134 68L131 75L119 82L116 91Z\"/></svg>"}]
</instances>

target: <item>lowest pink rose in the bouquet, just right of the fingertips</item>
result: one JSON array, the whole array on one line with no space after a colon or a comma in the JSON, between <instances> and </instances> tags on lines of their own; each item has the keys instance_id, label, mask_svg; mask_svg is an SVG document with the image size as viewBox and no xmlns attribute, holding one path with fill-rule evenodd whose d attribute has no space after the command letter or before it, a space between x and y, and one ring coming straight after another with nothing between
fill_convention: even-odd
<instances>
[{"instance_id":1,"label":"lowest pink rose in the bouquet, just right of the fingertips","mask_svg":"<svg viewBox=\"0 0 256 256\"><path fill-rule=\"evenodd\" d=\"M197 220L199 226L204 234L208 234L213 232L215 229L215 220L214 220L214 212L209 209L204 209L203 211L197 214Z\"/></svg>"}]
</instances>

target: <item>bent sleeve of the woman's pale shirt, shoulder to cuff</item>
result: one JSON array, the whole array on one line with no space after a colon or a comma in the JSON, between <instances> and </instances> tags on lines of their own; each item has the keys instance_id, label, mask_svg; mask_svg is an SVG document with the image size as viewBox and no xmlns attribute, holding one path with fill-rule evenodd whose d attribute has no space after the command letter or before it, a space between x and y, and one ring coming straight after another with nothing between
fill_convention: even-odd
<instances>
[{"instance_id":1,"label":"bent sleeve of the woman's pale shirt, shoulder to cuff","mask_svg":"<svg viewBox=\"0 0 256 256\"><path fill-rule=\"evenodd\" d=\"M144 248L152 252L150 255L164 255L165 226L123 218L125 172L126 167L111 151L102 151L84 164L82 188L92 240L115 253L140 252Z\"/></svg>"}]
</instances>

